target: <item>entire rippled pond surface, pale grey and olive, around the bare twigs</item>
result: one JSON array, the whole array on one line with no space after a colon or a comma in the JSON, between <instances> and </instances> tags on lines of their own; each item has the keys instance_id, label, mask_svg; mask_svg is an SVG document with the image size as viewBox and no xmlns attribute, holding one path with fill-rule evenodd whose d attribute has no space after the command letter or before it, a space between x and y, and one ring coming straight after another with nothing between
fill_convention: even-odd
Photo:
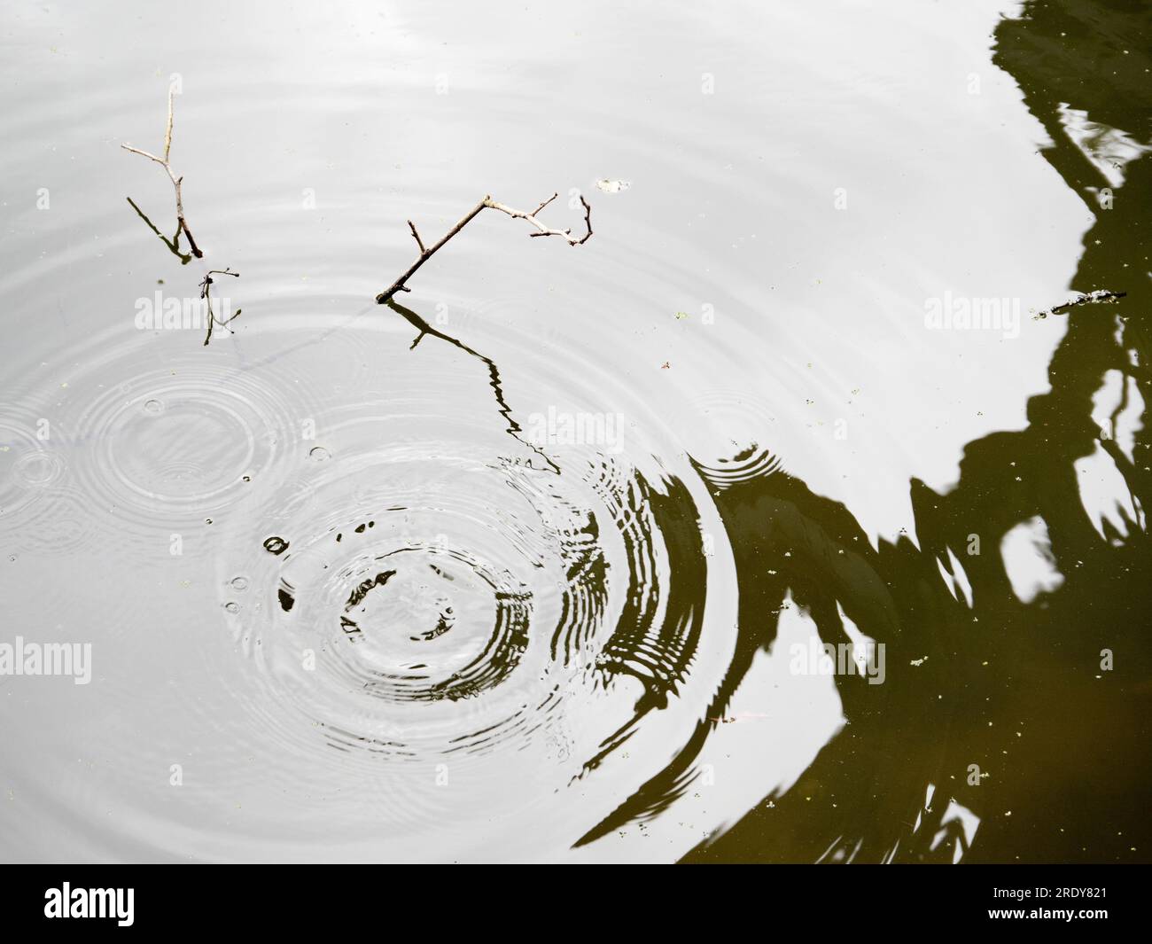
<instances>
[{"instance_id":1,"label":"entire rippled pond surface, pale grey and olive, around the bare twigs","mask_svg":"<svg viewBox=\"0 0 1152 944\"><path fill-rule=\"evenodd\" d=\"M0 859L1150 858L1146 5L0 25Z\"/></svg>"}]
</instances>

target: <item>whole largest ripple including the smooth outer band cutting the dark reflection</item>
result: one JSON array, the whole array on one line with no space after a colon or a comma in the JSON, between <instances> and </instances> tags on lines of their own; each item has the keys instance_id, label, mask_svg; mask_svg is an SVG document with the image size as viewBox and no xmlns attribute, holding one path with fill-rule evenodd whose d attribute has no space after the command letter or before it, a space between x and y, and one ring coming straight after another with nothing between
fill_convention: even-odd
<instances>
[{"instance_id":1,"label":"whole largest ripple including the smooth outer band cutting the dark reflection","mask_svg":"<svg viewBox=\"0 0 1152 944\"><path fill-rule=\"evenodd\" d=\"M454 416L387 397L320 413L293 475L227 529L219 603L248 657L237 696L266 737L374 766L407 798L393 825L447 815L422 786L441 766L468 784L460 821L586 791L623 756L599 813L571 808L592 817L571 841L666 763L667 734L649 745L639 720L669 709L689 730L734 620L703 643L699 484L594 445L536 447L499 406Z\"/></svg>"}]
</instances>

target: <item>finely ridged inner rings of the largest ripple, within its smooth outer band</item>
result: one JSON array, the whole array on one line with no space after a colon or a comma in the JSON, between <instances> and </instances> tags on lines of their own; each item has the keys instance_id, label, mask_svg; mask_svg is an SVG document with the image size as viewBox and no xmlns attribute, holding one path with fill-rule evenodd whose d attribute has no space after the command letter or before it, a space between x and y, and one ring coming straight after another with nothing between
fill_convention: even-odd
<instances>
[{"instance_id":1,"label":"finely ridged inner rings of the largest ripple, within its smooth outer band","mask_svg":"<svg viewBox=\"0 0 1152 944\"><path fill-rule=\"evenodd\" d=\"M561 684L563 698L621 673L655 697L674 688L703 610L661 612L668 549L646 484L612 493L447 450L381 448L296 483L255 567L223 584L249 651L295 680L331 737L397 754L491 748ZM256 605L236 590L249 580Z\"/></svg>"}]
</instances>

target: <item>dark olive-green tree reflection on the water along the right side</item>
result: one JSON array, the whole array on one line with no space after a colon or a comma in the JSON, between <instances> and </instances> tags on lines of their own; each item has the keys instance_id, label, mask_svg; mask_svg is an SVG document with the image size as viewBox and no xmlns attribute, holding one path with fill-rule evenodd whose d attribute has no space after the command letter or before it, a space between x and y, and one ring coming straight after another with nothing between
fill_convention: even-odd
<instances>
[{"instance_id":1,"label":"dark olive-green tree reflection on the water along the right side","mask_svg":"<svg viewBox=\"0 0 1152 944\"><path fill-rule=\"evenodd\" d=\"M884 627L929 658L884 687L882 700L841 686L851 726L773 808L753 810L689 861L876 861L890 855L897 837L895 861L949 861L948 843L933 852L925 841L946 809L939 794L931 811L920 809L925 783L980 817L964 861L1146 861L1147 535L1130 521L1098 533L1079 500L1075 466L1102 452L1137 507L1147 506L1146 430L1135 432L1126 455L1107 424L1101 432L1093 403L1112 372L1124 378L1116 413L1128 397L1147 402L1152 180L1147 160L1134 161L1119 199L1105 209L1098 194L1111 181L1069 138L1060 112L1078 109L1146 142L1147 25L1139 3L1025 3L1023 16L995 30L993 61L1020 83L1052 137L1041 148L1045 160L1096 217L1070 286L1129 294L1119 310L1087 305L1068 316L1048 368L1051 390L1029 399L1024 429L964 447L955 489L940 494L912 479L919 549L908 539L881 543L829 571L813 559L864 543L851 509L787 476L748 483L721 500L729 527L745 538L737 546L749 569L805 545L775 580L756 581L760 606L779 605L791 589L824 636L839 629L840 601L862 626ZM757 515L761 528L751 523ZM1036 515L1067 580L1023 605L1002 560L965 550L972 534L999 543ZM957 606L935 572L948 551L963 560L970 607ZM759 642L749 640L749 651ZM1111 677L1096 671L1105 650L1127 654L1130 664ZM961 772L971 763L990 773L979 786ZM918 776L909 777L911 770ZM831 845L821 848L824 840Z\"/></svg>"}]
</instances>

